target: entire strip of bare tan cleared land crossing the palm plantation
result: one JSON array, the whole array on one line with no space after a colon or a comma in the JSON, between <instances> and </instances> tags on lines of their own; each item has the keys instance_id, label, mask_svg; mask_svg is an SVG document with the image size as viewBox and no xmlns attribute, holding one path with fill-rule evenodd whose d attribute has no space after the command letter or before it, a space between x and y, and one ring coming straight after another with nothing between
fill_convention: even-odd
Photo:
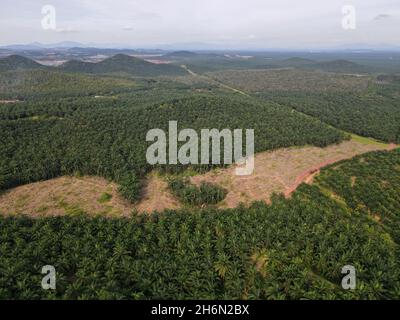
<instances>
[{"instance_id":1,"label":"entire strip of bare tan cleared land crossing the palm plantation","mask_svg":"<svg viewBox=\"0 0 400 320\"><path fill-rule=\"evenodd\" d=\"M220 208L235 208L240 203L249 205L253 201L268 203L274 192L289 197L300 184L312 183L322 167L369 151L396 147L353 139L326 148L286 148L257 154L255 170L250 176L236 176L232 166L190 179L195 184L205 181L227 189L227 197ZM60 177L20 186L0 195L0 214L24 213L33 217L79 213L121 217L129 216L135 209L151 213L180 207L157 173L148 176L142 200L137 205L119 196L115 183L99 177Z\"/></svg>"}]
</instances>

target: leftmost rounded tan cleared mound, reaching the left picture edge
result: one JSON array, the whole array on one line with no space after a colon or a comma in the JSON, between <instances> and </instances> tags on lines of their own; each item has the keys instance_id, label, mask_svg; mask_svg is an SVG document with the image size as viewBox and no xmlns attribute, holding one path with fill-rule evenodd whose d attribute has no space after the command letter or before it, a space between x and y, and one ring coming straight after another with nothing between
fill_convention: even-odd
<instances>
[{"instance_id":1,"label":"leftmost rounded tan cleared mound, reaching the left picture edge","mask_svg":"<svg viewBox=\"0 0 400 320\"><path fill-rule=\"evenodd\" d=\"M20 186L0 195L0 213L59 216L128 216L133 206L121 198L118 186L99 177L60 177ZM108 201L101 201L107 194ZM107 197L106 197L107 198Z\"/></svg>"}]
</instances>

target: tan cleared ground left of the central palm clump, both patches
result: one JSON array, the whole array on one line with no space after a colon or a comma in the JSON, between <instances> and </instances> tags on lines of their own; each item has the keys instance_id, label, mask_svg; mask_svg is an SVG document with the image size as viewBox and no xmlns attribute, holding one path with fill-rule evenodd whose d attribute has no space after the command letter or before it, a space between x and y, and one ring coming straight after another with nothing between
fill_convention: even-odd
<instances>
[{"instance_id":1,"label":"tan cleared ground left of the central palm clump, both patches","mask_svg":"<svg viewBox=\"0 0 400 320\"><path fill-rule=\"evenodd\" d=\"M100 177L64 176L20 186L0 195L0 214L33 217L80 213L121 217L129 216L134 209L151 213L179 207L179 202L167 191L167 183L156 174L149 175L142 200L136 206L118 194L117 184Z\"/></svg>"}]
</instances>

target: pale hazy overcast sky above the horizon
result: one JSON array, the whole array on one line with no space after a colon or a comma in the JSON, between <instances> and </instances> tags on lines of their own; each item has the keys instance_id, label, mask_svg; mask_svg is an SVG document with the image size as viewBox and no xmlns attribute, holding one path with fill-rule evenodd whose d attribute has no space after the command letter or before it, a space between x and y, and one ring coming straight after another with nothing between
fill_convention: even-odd
<instances>
[{"instance_id":1,"label":"pale hazy overcast sky above the horizon","mask_svg":"<svg viewBox=\"0 0 400 320\"><path fill-rule=\"evenodd\" d=\"M44 5L56 29L41 26ZM356 29L342 27L342 7ZM226 48L400 46L400 0L1 0L0 45L78 41L133 47L208 43Z\"/></svg>"}]
</instances>

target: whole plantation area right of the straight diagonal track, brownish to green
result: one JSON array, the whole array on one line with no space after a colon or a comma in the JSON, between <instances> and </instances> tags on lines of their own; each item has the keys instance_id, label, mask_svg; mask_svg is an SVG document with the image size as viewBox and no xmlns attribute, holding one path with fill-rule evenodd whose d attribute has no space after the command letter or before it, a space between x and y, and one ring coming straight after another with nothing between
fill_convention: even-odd
<instances>
[{"instance_id":1,"label":"whole plantation area right of the straight diagonal track, brownish to green","mask_svg":"<svg viewBox=\"0 0 400 320\"><path fill-rule=\"evenodd\" d=\"M209 76L335 128L400 142L400 85L395 76L373 78L302 70L221 71Z\"/></svg>"}]
</instances>

